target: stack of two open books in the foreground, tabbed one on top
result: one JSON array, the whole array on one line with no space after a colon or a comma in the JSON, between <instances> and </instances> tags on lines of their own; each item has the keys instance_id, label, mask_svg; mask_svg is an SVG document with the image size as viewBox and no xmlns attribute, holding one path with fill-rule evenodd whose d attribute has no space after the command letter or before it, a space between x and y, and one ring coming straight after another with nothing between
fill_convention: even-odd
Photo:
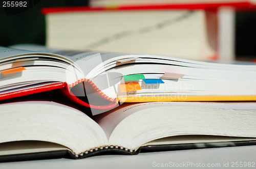
<instances>
[{"instance_id":1,"label":"stack of two open books in the foreground, tabbed one on top","mask_svg":"<svg viewBox=\"0 0 256 169\"><path fill-rule=\"evenodd\" d=\"M256 65L0 48L0 160L256 145Z\"/></svg>"}]
</instances>

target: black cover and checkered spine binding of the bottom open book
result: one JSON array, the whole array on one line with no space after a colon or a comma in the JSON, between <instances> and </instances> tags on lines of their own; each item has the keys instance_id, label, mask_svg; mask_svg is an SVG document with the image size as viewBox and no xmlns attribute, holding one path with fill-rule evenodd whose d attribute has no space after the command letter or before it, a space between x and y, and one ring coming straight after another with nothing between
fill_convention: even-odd
<instances>
[{"instance_id":1,"label":"black cover and checkered spine binding of the bottom open book","mask_svg":"<svg viewBox=\"0 0 256 169\"><path fill-rule=\"evenodd\" d=\"M38 153L13 154L0 156L0 162L21 161L21 160L36 160L36 159L53 159L53 158L71 158L81 159L95 155L103 154L123 154L123 155L137 155L146 152L161 152L161 151L176 151L189 149L206 149L206 148L220 148L220 147L237 147L237 146L252 146L256 145L256 140L235 141L235 142L216 142L216 143L189 143L189 144L174 144L174 145L153 145L143 146L137 151L125 149L120 146L103 146L94 148L89 151L75 155L69 150L48 151Z\"/></svg>"}]
</instances>

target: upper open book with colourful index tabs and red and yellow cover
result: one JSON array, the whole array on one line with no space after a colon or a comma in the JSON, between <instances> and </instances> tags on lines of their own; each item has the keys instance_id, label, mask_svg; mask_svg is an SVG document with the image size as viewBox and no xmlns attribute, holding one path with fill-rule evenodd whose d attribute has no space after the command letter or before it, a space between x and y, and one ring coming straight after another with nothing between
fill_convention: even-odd
<instances>
[{"instance_id":1,"label":"upper open book with colourful index tabs and red and yellow cover","mask_svg":"<svg viewBox=\"0 0 256 169\"><path fill-rule=\"evenodd\" d=\"M32 51L0 48L1 100L60 88L92 108L111 108L118 101L256 100L256 65L15 47Z\"/></svg>"}]
</instances>

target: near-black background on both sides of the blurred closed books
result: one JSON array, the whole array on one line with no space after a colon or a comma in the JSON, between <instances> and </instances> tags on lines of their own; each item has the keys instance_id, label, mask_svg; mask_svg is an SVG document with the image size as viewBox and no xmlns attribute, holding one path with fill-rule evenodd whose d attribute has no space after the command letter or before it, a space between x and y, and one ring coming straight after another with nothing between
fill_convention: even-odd
<instances>
[{"instance_id":1,"label":"near-black background on both sides of the blurred closed books","mask_svg":"<svg viewBox=\"0 0 256 169\"><path fill-rule=\"evenodd\" d=\"M45 44L44 7L88 6L84 0L27 0L27 8L0 6L0 46L18 43ZM246 60L256 57L256 11L236 13L236 56ZM243 59L242 59L243 60Z\"/></svg>"}]
</instances>

